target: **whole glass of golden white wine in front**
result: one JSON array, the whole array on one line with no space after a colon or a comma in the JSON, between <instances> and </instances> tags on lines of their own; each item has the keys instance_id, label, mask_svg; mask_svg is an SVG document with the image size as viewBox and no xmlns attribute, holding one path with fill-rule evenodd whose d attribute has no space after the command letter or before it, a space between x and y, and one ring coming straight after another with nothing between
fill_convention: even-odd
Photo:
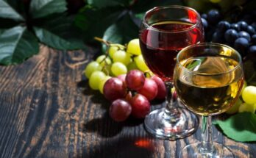
<instances>
[{"instance_id":1,"label":"whole glass of golden white wine in front","mask_svg":"<svg viewBox=\"0 0 256 158\"><path fill-rule=\"evenodd\" d=\"M240 54L218 43L188 46L177 55L174 87L185 106L202 115L202 142L185 146L179 157L233 157L229 148L213 143L211 116L227 111L241 92Z\"/></svg>"}]
</instances>

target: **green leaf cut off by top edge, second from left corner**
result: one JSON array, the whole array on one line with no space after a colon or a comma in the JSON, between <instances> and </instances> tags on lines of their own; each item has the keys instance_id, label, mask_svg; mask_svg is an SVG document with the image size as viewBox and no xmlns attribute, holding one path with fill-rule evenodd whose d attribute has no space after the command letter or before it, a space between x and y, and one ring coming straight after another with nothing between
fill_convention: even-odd
<instances>
[{"instance_id":1,"label":"green leaf cut off by top edge, second from left corner","mask_svg":"<svg viewBox=\"0 0 256 158\"><path fill-rule=\"evenodd\" d=\"M42 18L53 13L65 12L66 5L65 0L32 0L30 14L32 18Z\"/></svg>"}]
</instances>

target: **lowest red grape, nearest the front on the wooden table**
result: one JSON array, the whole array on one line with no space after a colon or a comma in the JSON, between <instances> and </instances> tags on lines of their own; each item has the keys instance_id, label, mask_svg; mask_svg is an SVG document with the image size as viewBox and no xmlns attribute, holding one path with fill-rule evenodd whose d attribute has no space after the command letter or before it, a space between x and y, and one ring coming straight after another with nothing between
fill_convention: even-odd
<instances>
[{"instance_id":1,"label":"lowest red grape, nearest the front on the wooden table","mask_svg":"<svg viewBox=\"0 0 256 158\"><path fill-rule=\"evenodd\" d=\"M124 99L116 99L110 106L110 117L116 122L125 121L132 112L131 105Z\"/></svg>"}]
</instances>

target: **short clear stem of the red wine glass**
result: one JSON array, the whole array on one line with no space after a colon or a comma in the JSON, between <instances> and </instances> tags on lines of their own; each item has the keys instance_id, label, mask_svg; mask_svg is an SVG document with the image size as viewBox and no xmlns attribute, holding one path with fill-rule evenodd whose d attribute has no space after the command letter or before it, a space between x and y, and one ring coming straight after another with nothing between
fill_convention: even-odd
<instances>
[{"instance_id":1,"label":"short clear stem of the red wine glass","mask_svg":"<svg viewBox=\"0 0 256 158\"><path fill-rule=\"evenodd\" d=\"M166 109L163 117L166 120L175 123L177 122L177 118L179 118L180 112L177 110L177 107L174 103L175 101L172 93L172 88L174 87L174 85L172 84L172 82L165 82L165 84L166 84L167 95L166 95Z\"/></svg>"}]
</instances>

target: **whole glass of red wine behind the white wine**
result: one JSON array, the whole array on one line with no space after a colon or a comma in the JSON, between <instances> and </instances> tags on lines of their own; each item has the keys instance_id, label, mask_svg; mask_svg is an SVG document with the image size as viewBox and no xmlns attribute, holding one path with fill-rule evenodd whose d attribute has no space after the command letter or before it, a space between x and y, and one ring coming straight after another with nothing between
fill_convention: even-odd
<instances>
[{"instance_id":1,"label":"whole glass of red wine behind the white wine","mask_svg":"<svg viewBox=\"0 0 256 158\"><path fill-rule=\"evenodd\" d=\"M196 131L196 115L172 97L173 73L178 52L204 41L200 15L190 7L154 7L143 17L140 30L143 59L149 69L166 83L166 107L146 116L146 130L155 137L177 140ZM179 100L179 99L178 99Z\"/></svg>"}]
</instances>

